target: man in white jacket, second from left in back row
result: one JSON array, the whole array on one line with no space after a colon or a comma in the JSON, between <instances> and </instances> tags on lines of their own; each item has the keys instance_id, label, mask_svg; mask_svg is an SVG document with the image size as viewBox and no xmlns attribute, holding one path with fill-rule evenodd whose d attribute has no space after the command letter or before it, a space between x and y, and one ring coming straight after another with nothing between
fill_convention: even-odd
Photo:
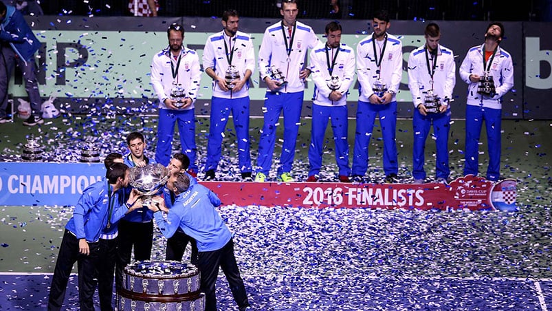
<instances>
[{"instance_id":1,"label":"man in white jacket, second from left in back row","mask_svg":"<svg viewBox=\"0 0 552 311\"><path fill-rule=\"evenodd\" d=\"M249 79L255 69L253 41L249 34L238 31L239 16L236 10L222 15L223 30L209 36L203 50L203 68L213 79L211 118L205 180L214 180L221 160L223 131L232 111L236 130L238 159L241 178L251 179L251 156L249 139ZM239 78L230 85L225 82L225 73L232 65Z\"/></svg>"}]
</instances>

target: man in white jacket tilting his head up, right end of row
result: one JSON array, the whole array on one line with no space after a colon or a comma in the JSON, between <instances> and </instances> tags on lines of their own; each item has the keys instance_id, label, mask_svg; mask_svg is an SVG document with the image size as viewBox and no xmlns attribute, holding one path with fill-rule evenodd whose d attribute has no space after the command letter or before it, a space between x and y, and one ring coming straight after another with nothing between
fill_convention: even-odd
<instances>
[{"instance_id":1,"label":"man in white jacket tilting his head up, right end of row","mask_svg":"<svg viewBox=\"0 0 552 311\"><path fill-rule=\"evenodd\" d=\"M470 48L460 66L460 77L468 83L464 175L478 174L479 138L485 120L489 152L487 180L494 182L500 178L502 96L514 87L511 55L500 47L503 38L504 25L490 23L485 43Z\"/></svg>"}]
</instances>

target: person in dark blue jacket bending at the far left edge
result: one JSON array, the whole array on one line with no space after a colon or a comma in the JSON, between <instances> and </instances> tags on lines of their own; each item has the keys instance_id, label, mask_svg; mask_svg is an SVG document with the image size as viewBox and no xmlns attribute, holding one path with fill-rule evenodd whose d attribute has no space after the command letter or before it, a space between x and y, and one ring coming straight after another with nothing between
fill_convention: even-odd
<instances>
[{"instance_id":1,"label":"person in dark blue jacket bending at the far left edge","mask_svg":"<svg viewBox=\"0 0 552 311\"><path fill-rule=\"evenodd\" d=\"M21 12L0 1L0 123L8 121L5 112L8 107L8 83L15 63L23 72L25 89L29 94L32 109L31 116L23 121L23 125L33 126L44 123L34 61L34 53L40 47L40 41L32 33Z\"/></svg>"}]
</instances>

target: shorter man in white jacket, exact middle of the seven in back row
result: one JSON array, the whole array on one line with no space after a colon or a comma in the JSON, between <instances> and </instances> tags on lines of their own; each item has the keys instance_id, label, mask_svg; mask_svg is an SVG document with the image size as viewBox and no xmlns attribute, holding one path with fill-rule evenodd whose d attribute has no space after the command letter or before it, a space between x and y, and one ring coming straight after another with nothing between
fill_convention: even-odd
<instances>
[{"instance_id":1,"label":"shorter man in white jacket, exact middle of the seven in back row","mask_svg":"<svg viewBox=\"0 0 552 311\"><path fill-rule=\"evenodd\" d=\"M316 88L312 106L311 145L309 147L309 178L318 181L322 167L324 133L331 118L335 161L338 164L338 180L350 182L349 142L347 141L347 95L355 76L355 52L340 43L342 26L335 21L326 25L327 42L318 43L311 50L311 72Z\"/></svg>"}]
</instances>

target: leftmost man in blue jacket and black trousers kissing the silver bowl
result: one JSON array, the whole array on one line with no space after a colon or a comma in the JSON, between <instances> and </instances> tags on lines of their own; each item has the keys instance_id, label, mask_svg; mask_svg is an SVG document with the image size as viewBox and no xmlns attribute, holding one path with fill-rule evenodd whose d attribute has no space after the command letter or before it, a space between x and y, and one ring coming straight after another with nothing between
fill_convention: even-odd
<instances>
[{"instance_id":1,"label":"leftmost man in blue jacket and black trousers kissing the silver bowl","mask_svg":"<svg viewBox=\"0 0 552 311\"><path fill-rule=\"evenodd\" d=\"M120 189L129 184L129 167L122 163L113 164L102 179L82 192L73 217L65 226L65 233L59 248L52 285L50 287L48 310L60 310L65 299L65 290L71 269L78 261L78 296L80 310L94 310L92 296L96 290L100 234L111 227L125 213L140 206L135 203L137 193L133 191L129 200L120 204Z\"/></svg>"}]
</instances>

